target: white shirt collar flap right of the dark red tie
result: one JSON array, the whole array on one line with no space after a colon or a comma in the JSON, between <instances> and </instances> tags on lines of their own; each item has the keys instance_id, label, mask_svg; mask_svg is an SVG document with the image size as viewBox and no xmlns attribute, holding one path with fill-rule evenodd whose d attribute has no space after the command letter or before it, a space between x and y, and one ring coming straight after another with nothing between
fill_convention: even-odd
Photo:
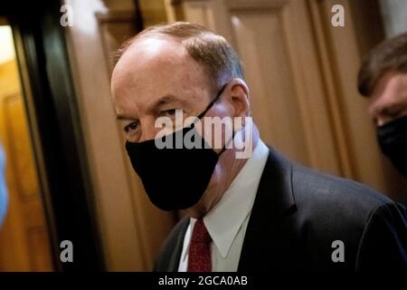
<instances>
[{"instance_id":1,"label":"white shirt collar flap right of the dark red tie","mask_svg":"<svg viewBox=\"0 0 407 290\"><path fill-rule=\"evenodd\" d=\"M269 148L259 140L251 158L233 179L229 189L204 217L204 225L223 258L228 255L244 219L251 212L268 155ZM191 225L194 226L194 223Z\"/></svg>"}]
</instances>

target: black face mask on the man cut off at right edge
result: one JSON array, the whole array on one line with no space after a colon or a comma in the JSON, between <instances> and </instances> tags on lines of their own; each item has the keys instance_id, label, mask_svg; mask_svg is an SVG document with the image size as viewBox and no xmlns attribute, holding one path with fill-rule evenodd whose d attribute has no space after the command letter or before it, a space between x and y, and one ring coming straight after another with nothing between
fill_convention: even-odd
<instances>
[{"instance_id":1,"label":"black face mask on the man cut off at right edge","mask_svg":"<svg viewBox=\"0 0 407 290\"><path fill-rule=\"evenodd\" d=\"M384 155L407 176L407 116L377 127L377 140Z\"/></svg>"}]
</instances>

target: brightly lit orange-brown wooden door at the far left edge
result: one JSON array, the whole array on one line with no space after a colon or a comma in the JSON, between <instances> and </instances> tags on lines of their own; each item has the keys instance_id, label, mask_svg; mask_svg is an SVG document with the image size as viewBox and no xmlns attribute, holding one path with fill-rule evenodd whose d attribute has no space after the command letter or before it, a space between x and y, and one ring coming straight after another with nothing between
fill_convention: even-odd
<instances>
[{"instance_id":1,"label":"brightly lit orange-brown wooden door at the far left edge","mask_svg":"<svg viewBox=\"0 0 407 290\"><path fill-rule=\"evenodd\" d=\"M49 234L15 59L0 64L0 142L8 210L0 229L0 271L52 271Z\"/></svg>"}]
</instances>

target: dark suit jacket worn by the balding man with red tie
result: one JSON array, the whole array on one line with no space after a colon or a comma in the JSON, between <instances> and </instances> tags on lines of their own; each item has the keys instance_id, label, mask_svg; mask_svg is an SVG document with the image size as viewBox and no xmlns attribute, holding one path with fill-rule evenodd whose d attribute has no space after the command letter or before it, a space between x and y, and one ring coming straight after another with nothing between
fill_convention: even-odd
<instances>
[{"instance_id":1,"label":"dark suit jacket worn by the balding man with red tie","mask_svg":"<svg viewBox=\"0 0 407 290\"><path fill-rule=\"evenodd\" d=\"M189 218L166 239L156 271L177 271ZM407 213L347 179L292 163L276 150L261 175L238 271L407 270ZM345 262L333 262L335 240Z\"/></svg>"}]
</instances>

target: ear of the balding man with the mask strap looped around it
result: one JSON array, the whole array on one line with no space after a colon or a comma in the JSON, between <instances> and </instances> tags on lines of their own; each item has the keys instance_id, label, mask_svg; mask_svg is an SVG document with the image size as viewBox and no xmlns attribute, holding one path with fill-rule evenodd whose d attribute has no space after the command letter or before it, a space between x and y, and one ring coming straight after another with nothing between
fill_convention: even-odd
<instances>
[{"instance_id":1,"label":"ear of the balding man with the mask strap looped around it","mask_svg":"<svg viewBox=\"0 0 407 290\"><path fill-rule=\"evenodd\" d=\"M249 88L243 80L233 79L229 83L230 101L233 106L233 117L246 117L251 114Z\"/></svg>"}]
</instances>

